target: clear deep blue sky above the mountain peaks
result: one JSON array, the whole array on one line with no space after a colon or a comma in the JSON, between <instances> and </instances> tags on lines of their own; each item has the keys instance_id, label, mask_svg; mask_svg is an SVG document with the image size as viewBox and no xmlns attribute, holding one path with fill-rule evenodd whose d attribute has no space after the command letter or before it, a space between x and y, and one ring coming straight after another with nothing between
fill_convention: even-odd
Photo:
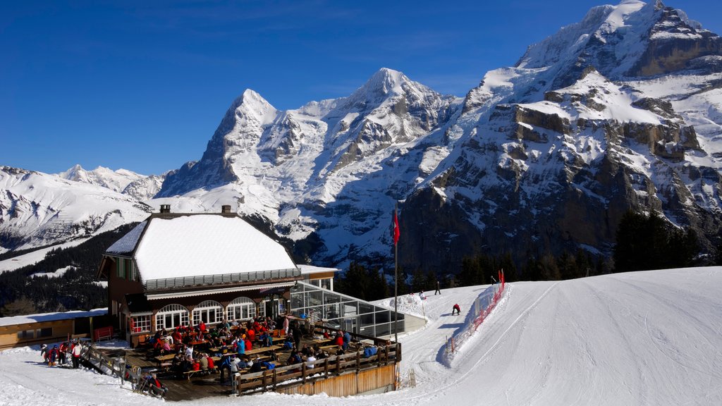
<instances>
[{"instance_id":1,"label":"clear deep blue sky above the mountain peaks","mask_svg":"<svg viewBox=\"0 0 722 406\"><path fill-rule=\"evenodd\" d=\"M0 165L160 174L198 160L250 88L279 109L388 67L462 96L617 1L4 1ZM722 33L722 1L671 7Z\"/></svg>"}]
</instances>

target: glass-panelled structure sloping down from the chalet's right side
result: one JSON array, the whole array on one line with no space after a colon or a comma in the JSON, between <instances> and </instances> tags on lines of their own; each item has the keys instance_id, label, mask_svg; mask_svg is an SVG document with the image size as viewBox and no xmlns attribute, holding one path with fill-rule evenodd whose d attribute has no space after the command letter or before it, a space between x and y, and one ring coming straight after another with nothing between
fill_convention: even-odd
<instances>
[{"instance_id":1,"label":"glass-panelled structure sloping down from the chalet's right side","mask_svg":"<svg viewBox=\"0 0 722 406\"><path fill-rule=\"evenodd\" d=\"M352 296L298 282L291 288L291 314L323 325L370 337L396 332L393 310ZM404 314L399 312L398 332L404 332Z\"/></svg>"}]
</instances>

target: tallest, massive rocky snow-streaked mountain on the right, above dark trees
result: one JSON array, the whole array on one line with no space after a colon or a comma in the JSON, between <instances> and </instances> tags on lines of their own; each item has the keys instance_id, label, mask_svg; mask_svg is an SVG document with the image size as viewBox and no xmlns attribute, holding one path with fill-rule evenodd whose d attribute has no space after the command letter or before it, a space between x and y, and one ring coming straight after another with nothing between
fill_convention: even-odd
<instances>
[{"instance_id":1,"label":"tallest, massive rocky snow-streaked mountain on the right, above dark trees","mask_svg":"<svg viewBox=\"0 0 722 406\"><path fill-rule=\"evenodd\" d=\"M402 256L608 256L627 210L691 227L709 251L722 230L718 43L683 12L623 1L487 73L452 124L456 148L406 199Z\"/></svg>"}]
</instances>

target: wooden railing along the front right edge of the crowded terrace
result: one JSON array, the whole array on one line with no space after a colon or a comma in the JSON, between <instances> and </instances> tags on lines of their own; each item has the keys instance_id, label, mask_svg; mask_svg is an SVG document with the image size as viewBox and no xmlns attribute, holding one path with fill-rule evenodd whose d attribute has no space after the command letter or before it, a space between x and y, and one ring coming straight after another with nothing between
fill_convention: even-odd
<instances>
[{"instance_id":1,"label":"wooden railing along the front right edge of the crowded terrace","mask_svg":"<svg viewBox=\"0 0 722 406\"><path fill-rule=\"evenodd\" d=\"M376 347L375 355L365 358L361 347L352 353L331 355L329 358L316 360L313 368L307 364L297 363L289 366L277 366L274 369L254 373L239 373L235 376L235 386L239 394L275 391L279 386L305 384L307 381L328 379L349 371L386 366L401 360L401 345L391 344Z\"/></svg>"}]
</instances>

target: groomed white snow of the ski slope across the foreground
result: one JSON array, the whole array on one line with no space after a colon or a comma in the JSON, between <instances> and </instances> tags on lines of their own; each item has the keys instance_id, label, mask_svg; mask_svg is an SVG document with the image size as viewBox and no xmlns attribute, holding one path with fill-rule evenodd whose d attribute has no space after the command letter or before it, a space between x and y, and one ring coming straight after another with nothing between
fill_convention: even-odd
<instances>
[{"instance_id":1,"label":"groomed white snow of the ski slope across the foreground","mask_svg":"<svg viewBox=\"0 0 722 406\"><path fill-rule=\"evenodd\" d=\"M412 301L428 319L399 336L416 386L361 397L261 394L193 405L722 405L722 267L508 283L445 366L485 286ZM429 294L429 293L427 293ZM451 316L459 303L461 316ZM48 368L37 347L0 353L0 405L155 405L92 371ZM185 402L181 402L185 403Z\"/></svg>"}]
</instances>

